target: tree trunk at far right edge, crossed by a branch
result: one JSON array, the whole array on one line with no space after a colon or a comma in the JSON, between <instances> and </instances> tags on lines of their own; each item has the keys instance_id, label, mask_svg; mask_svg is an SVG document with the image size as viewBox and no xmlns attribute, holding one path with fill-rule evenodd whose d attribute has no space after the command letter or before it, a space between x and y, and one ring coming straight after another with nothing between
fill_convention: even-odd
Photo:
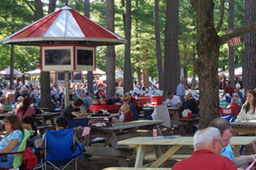
<instances>
[{"instance_id":1,"label":"tree trunk at far right edge, crossed by a branch","mask_svg":"<svg viewBox=\"0 0 256 170\"><path fill-rule=\"evenodd\" d=\"M245 20L246 26L256 20L256 1L245 1ZM245 59L242 68L243 84L246 89L256 87L256 30L248 31L245 36Z\"/></svg>"}]
</instances>

